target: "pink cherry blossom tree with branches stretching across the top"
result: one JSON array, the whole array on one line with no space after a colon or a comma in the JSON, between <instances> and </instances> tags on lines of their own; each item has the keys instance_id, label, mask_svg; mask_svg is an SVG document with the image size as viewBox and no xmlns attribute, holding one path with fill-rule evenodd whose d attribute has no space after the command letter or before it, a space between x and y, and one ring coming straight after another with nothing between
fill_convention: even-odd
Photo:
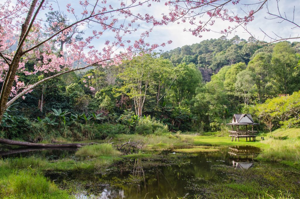
<instances>
[{"instance_id":1,"label":"pink cherry blossom tree with branches stretching across the top","mask_svg":"<svg viewBox=\"0 0 300 199\"><path fill-rule=\"evenodd\" d=\"M138 51L151 51L171 43L172 41L150 44L145 41L155 26L189 23L190 28L184 31L201 37L202 32L216 31L212 27L217 20L223 20L232 22L232 26L218 30L220 33L228 34L239 27L247 31L247 24L253 21L254 15L266 8L266 13L275 20L287 21L296 28L299 27L294 19L290 20L281 15L279 9L279 14L271 14L268 10L268 0L255 0L249 4L241 2L248 1L120 0L111 3L107 0L85 0L79 1L76 7L74 5L77 4L72 5L73 3L63 5L63 1L16 0L16 3L12 3L11 0L6 0L0 4L0 121L8 106L44 81L90 66L117 65L124 57L131 59ZM165 6L167 13L147 13L152 4ZM77 9L79 6L81 10ZM242 14L238 15L230 10L232 6L247 9L243 9ZM70 23L52 21L50 26L44 26L45 13L54 10L53 7L58 7L64 11L61 13L68 14L68 17L72 18ZM140 23L148 24L149 28L131 41L127 37L138 31ZM83 34L82 40L76 40L76 37L69 38L75 29L89 29L91 33ZM107 39L108 35L110 40ZM64 43L65 49L62 50L61 41L67 39L68 42ZM289 38L278 40L284 39ZM102 49L95 47L95 43L101 43ZM35 60L33 71L25 67L29 60ZM53 75L31 85L19 81L18 74L21 73L36 75L49 72ZM90 89L94 90L93 87Z\"/></svg>"}]
</instances>

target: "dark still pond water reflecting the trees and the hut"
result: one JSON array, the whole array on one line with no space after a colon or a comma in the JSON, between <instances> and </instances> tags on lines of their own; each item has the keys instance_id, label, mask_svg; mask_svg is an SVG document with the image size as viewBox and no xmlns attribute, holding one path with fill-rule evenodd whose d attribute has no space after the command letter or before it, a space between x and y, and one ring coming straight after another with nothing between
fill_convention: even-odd
<instances>
[{"instance_id":1,"label":"dark still pond water reflecting the trees and the hut","mask_svg":"<svg viewBox=\"0 0 300 199\"><path fill-rule=\"evenodd\" d=\"M0 153L2 158L38 156L47 160L62 158L76 158L74 148L61 150L59 148L14 149ZM18 151L19 150L19 151ZM23 151L22 151L23 150ZM150 165L151 158L127 158L106 170L105 173L69 172L48 173L58 185L72 182L81 185L83 190L77 194L78 198L164 198L164 197L193 197L199 194L197 187L220 179L226 180L227 173L214 169L216 166L225 165L235 169L248 169L255 167L254 158L259 153L259 148L251 146L221 147L218 152L202 152L189 155L180 155L180 161L172 160L165 164ZM163 156L176 157L172 149L162 151ZM163 159L161 161L164 161ZM129 165L129 166L128 166Z\"/></svg>"}]
</instances>

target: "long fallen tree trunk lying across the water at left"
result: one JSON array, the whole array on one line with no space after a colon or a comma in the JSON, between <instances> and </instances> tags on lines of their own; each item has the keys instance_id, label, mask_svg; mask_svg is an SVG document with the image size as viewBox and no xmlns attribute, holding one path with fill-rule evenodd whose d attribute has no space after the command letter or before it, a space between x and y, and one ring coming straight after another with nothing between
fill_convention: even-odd
<instances>
[{"instance_id":1,"label":"long fallen tree trunk lying across the water at left","mask_svg":"<svg viewBox=\"0 0 300 199\"><path fill-rule=\"evenodd\" d=\"M0 138L0 144L9 144L9 145L27 146L27 147L82 147L85 145L93 145L98 143L90 142L90 143L70 143L70 144L40 144L40 143L23 142L23 141Z\"/></svg>"}]
</instances>

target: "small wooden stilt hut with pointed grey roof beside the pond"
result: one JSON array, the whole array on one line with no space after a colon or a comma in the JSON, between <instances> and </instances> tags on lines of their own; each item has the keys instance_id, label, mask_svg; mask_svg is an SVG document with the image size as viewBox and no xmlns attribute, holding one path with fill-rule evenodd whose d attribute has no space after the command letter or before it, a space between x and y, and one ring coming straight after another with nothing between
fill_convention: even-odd
<instances>
[{"instance_id":1,"label":"small wooden stilt hut with pointed grey roof beside the pond","mask_svg":"<svg viewBox=\"0 0 300 199\"><path fill-rule=\"evenodd\" d=\"M226 125L231 125L232 130L229 130L230 133L229 136L231 136L231 141L233 141L233 137L235 137L235 141L236 138L238 138L239 141L240 137L245 137L246 142L248 138L249 141L251 141L251 137L252 137L252 141L255 141L256 138L255 133L257 133L257 131L253 130L253 125L258 125L258 124L254 123L250 114L234 114L232 118L232 122ZM248 130L248 125L252 126L252 130ZM233 130L233 126L236 126L236 130ZM246 129L239 130L239 126L246 126Z\"/></svg>"}]
</instances>

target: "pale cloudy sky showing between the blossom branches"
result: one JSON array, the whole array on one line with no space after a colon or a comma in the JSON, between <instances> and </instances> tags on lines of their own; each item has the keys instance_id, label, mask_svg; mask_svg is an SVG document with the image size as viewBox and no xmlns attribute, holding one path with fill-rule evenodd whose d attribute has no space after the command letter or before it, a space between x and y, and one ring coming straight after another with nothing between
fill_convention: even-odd
<instances>
[{"instance_id":1,"label":"pale cloudy sky showing between the blossom branches","mask_svg":"<svg viewBox=\"0 0 300 199\"><path fill-rule=\"evenodd\" d=\"M124 1L124 0L123 0ZM129 1L129 0L128 0ZM242 9L247 10L250 8L256 8L257 5L250 5L250 6L244 6L244 4L250 4L253 2L259 2L260 0L240 0L240 3L238 4L238 6L236 5L232 5L232 3L228 4L228 9L231 10L232 12L234 12L235 14L242 14ZM4 0L0 0L1 3L5 2ZM12 0L13 3L16 2L16 0ZM65 14L68 14L66 12L66 5L68 3L71 3L71 5L75 8L76 14L80 15L81 11L82 11L82 7L79 5L79 0L57 0L57 2L55 1L49 1L52 4L52 7L54 10L58 10L58 5L59 5L59 9L61 11L64 11ZM93 4L93 2L95 2L95 0L91 0L89 1L91 4ZM121 0L107 0L108 4L112 4L113 6L117 6L120 5ZM126 2L126 0L125 0ZM155 17L161 17L162 13L167 14L168 13L168 8L166 6L164 6L164 0L161 0L160 3L155 3L152 2L152 6L150 8L148 8L147 6L138 6L137 8L134 8L132 11L134 13L149 13L154 15ZM294 16L294 22L298 24L300 24L300 15L298 15L300 9L298 8L298 5L300 3L300 0L280 0L279 1L279 10L281 12L281 14L286 14L287 18L292 19L293 18L293 10L294 10L294 6L295 7L295 16ZM269 0L268 1L268 8L269 11L271 13L274 14L278 14L278 10L277 10L277 1L276 0ZM46 19L45 17L45 13L48 12L49 10L44 10L41 11L39 14L40 18ZM70 16L70 14L68 14L68 17L71 18L71 20L74 20L74 18L72 18L72 16ZM204 18L207 17L206 15L204 16ZM267 18L271 18L270 15L267 14L267 10L266 10L266 6L264 6L264 8L262 10L260 10L259 12L257 12L255 14L254 20L252 22L250 22L250 24L247 26L247 29L251 32L251 34L255 35L255 37L259 40L263 40L269 42L270 39L264 37L264 32L266 32L268 35L272 36L272 37L276 37L275 34L282 36L282 37L295 37L298 36L298 32L299 32L299 27L297 28L292 28L292 24L291 23L286 23L286 22L282 22L282 23L278 23L279 20L275 19L275 20L269 20L269 19L265 19L265 17ZM202 19L204 19L202 18ZM120 20L122 20L120 18ZM227 21L222 21L222 20L217 20L213 26L213 29L215 31L220 31L228 26L233 26L233 23L227 22ZM140 23L140 27L138 28L138 31L131 34L131 35L127 35L125 38L130 39L132 41L134 41L135 39L137 39L137 37L140 35L141 32L149 29L151 27L151 24L149 23ZM161 44L163 42L167 42L168 40L172 40L173 43L172 44L167 44L165 47L160 47L158 48L158 50L162 50L162 51L169 51L171 49L174 49L176 47L182 47L184 45L191 45L194 43L199 43L200 41L206 40L206 39L211 39L211 38L220 38L222 36L222 34L217 33L217 32L203 32L201 35L202 37L196 37L193 36L191 34L191 32L184 32L183 29L189 29L191 26L189 23L181 23L181 24L177 24L177 23L171 23L168 24L167 26L155 26L155 28L153 29L153 31L150 34L149 38L146 38L146 42L148 41L149 43L153 44L153 43L158 43ZM81 27L82 30L85 31L86 35L91 35L91 31L93 29L97 29L97 26L93 27L93 28L88 28L86 26ZM261 29L261 30L260 30ZM100 40L93 42L92 44L95 46L96 49L102 49L105 45L104 42L105 40L110 40L112 41L111 33L107 32L106 34L104 34L103 36L101 36ZM240 38L244 38L247 40L247 38L249 38L251 35L246 32L244 29L242 28L238 28L236 29L234 32L232 32L231 34L229 34L227 36L227 38L232 38L235 35L238 35ZM226 35L225 35L226 36ZM290 40L290 41L300 41L299 39L295 39L295 40Z\"/></svg>"}]
</instances>

